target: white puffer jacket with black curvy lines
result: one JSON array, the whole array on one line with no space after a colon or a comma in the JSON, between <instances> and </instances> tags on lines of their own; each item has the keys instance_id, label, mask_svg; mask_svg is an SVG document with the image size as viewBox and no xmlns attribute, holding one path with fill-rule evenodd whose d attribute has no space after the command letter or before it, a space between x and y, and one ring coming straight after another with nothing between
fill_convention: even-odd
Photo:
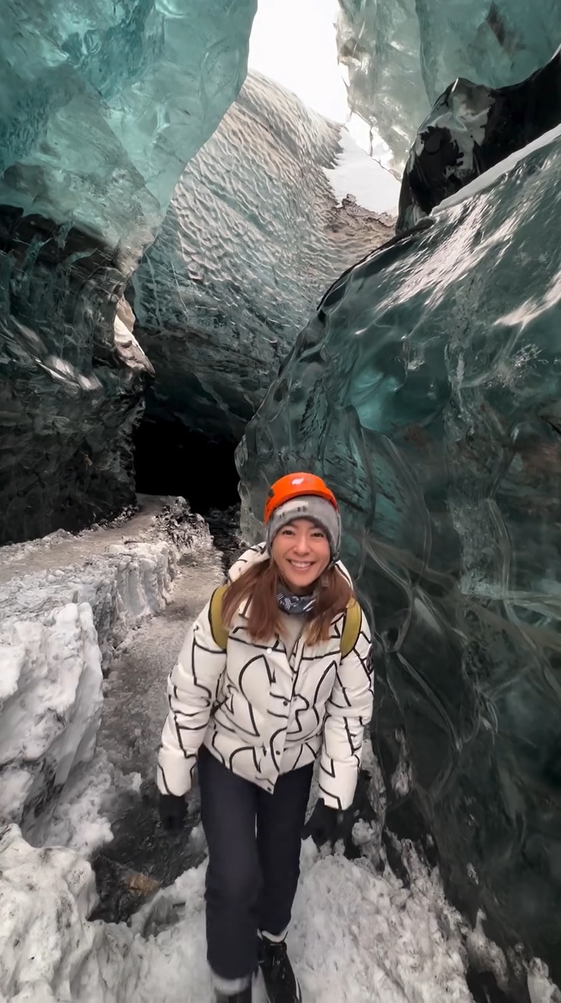
<instances>
[{"instance_id":1,"label":"white puffer jacket with black curvy lines","mask_svg":"<svg viewBox=\"0 0 561 1003\"><path fill-rule=\"evenodd\" d=\"M265 545L233 566L266 560ZM348 577L339 563L339 570ZM215 642L210 604L188 632L168 682L170 713L158 757L158 786L184 794L192 785L200 746L234 773L272 792L279 773L311 762L321 749L319 785L325 803L352 802L364 727L372 713L370 632L362 615L352 651L341 658L343 614L327 641L296 643L290 658L278 637L259 644L247 632L249 603L229 631L226 652Z\"/></svg>"}]
</instances>

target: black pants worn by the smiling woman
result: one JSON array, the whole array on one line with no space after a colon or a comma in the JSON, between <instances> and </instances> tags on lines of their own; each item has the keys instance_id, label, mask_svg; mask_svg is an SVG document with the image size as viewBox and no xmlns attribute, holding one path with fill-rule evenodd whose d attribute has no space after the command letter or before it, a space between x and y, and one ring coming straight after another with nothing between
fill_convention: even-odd
<instances>
[{"instance_id":1,"label":"black pants worn by the smiling woman","mask_svg":"<svg viewBox=\"0 0 561 1003\"><path fill-rule=\"evenodd\" d=\"M199 753L201 815L209 845L207 956L223 979L257 967L257 932L290 922L313 763L279 776L274 793ZM257 829L257 830L256 830Z\"/></svg>"}]
</instances>

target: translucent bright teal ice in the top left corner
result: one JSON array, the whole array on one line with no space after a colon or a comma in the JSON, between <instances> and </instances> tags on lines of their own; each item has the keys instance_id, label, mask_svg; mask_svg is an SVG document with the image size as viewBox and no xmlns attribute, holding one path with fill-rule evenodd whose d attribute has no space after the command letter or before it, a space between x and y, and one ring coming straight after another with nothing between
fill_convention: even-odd
<instances>
[{"instance_id":1,"label":"translucent bright teal ice in the top left corner","mask_svg":"<svg viewBox=\"0 0 561 1003\"><path fill-rule=\"evenodd\" d=\"M256 0L7 0L0 204L119 247L156 234L243 83Z\"/></svg>"}]
</instances>

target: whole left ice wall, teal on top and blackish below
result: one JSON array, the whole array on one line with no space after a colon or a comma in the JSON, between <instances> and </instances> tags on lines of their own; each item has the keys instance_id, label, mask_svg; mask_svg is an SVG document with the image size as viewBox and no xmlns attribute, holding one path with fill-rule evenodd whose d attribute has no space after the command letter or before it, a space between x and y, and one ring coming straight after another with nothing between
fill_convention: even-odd
<instances>
[{"instance_id":1,"label":"whole left ice wall, teal on top and blackish below","mask_svg":"<svg viewBox=\"0 0 561 1003\"><path fill-rule=\"evenodd\" d=\"M130 436L152 369L122 293L243 82L255 8L2 6L0 543L133 501Z\"/></svg>"}]
</instances>

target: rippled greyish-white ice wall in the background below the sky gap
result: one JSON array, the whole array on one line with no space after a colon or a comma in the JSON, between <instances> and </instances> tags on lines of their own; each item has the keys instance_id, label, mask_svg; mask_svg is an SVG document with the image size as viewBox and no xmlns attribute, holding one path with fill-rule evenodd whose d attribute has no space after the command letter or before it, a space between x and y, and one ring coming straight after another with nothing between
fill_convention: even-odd
<instances>
[{"instance_id":1,"label":"rippled greyish-white ice wall in the background below the sky gap","mask_svg":"<svg viewBox=\"0 0 561 1003\"><path fill-rule=\"evenodd\" d=\"M239 438L329 283L386 238L371 213L337 208L324 169L340 132L248 76L132 281L149 412Z\"/></svg>"}]
</instances>

